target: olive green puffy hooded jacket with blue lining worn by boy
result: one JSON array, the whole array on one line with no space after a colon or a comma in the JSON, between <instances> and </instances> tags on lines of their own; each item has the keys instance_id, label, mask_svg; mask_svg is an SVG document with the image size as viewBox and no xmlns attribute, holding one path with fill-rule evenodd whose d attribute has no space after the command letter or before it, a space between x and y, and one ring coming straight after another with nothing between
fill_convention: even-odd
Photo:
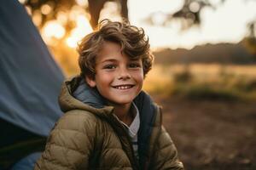
<instances>
[{"instance_id":1,"label":"olive green puffy hooded jacket with blue lining worn by boy","mask_svg":"<svg viewBox=\"0 0 256 170\"><path fill-rule=\"evenodd\" d=\"M148 94L142 92L134 99L141 120L139 161L124 125L113 116L113 107L106 106L80 77L64 82L59 102L65 114L51 131L36 170L183 169L172 139L161 126L160 107Z\"/></svg>"}]
</instances>

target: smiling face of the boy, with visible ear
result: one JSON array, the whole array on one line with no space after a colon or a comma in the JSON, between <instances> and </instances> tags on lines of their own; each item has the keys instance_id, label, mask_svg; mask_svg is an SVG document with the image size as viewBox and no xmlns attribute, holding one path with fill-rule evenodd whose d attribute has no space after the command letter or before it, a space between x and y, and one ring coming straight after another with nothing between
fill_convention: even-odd
<instances>
[{"instance_id":1,"label":"smiling face of the boy, with visible ear","mask_svg":"<svg viewBox=\"0 0 256 170\"><path fill-rule=\"evenodd\" d=\"M131 60L118 43L104 42L95 69L95 79L86 82L114 105L131 104L143 88L142 59Z\"/></svg>"}]
</instances>

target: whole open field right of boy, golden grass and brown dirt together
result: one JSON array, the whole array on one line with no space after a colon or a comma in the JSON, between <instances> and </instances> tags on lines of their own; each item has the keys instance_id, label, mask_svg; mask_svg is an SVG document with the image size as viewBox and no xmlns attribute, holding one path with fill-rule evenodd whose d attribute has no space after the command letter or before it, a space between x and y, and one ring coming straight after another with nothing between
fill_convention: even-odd
<instances>
[{"instance_id":1,"label":"whole open field right of boy, golden grass and brown dirt together","mask_svg":"<svg viewBox=\"0 0 256 170\"><path fill-rule=\"evenodd\" d=\"M255 78L255 65L155 65L144 89L186 169L256 169Z\"/></svg>"}]
</instances>

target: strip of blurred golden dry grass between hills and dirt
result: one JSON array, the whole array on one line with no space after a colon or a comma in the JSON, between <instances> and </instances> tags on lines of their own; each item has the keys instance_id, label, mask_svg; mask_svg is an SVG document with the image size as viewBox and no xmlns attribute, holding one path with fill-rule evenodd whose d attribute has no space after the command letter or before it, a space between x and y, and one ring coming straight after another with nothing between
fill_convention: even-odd
<instances>
[{"instance_id":1,"label":"strip of blurred golden dry grass between hills and dirt","mask_svg":"<svg viewBox=\"0 0 256 170\"><path fill-rule=\"evenodd\" d=\"M143 88L196 99L256 99L256 65L154 65Z\"/></svg>"}]
</instances>

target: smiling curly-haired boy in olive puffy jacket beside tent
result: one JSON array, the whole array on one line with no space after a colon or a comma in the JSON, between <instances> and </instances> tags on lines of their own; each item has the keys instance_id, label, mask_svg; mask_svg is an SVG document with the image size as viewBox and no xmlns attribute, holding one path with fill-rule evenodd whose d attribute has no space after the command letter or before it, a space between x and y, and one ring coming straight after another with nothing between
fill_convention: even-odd
<instances>
[{"instance_id":1,"label":"smiling curly-haired boy in olive puffy jacket beside tent","mask_svg":"<svg viewBox=\"0 0 256 170\"><path fill-rule=\"evenodd\" d=\"M102 20L79 44L81 74L64 83L55 124L35 169L183 169L142 91L153 56L143 29Z\"/></svg>"}]
</instances>

